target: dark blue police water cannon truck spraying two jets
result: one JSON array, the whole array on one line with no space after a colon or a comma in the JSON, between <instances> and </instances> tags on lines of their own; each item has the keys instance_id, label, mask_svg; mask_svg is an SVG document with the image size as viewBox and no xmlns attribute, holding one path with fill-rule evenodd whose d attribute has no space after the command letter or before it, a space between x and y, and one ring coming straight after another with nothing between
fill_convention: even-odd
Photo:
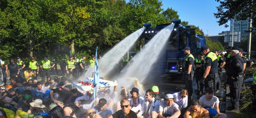
<instances>
[{"instance_id":1,"label":"dark blue police water cannon truck spraying two jets","mask_svg":"<svg viewBox=\"0 0 256 118\"><path fill-rule=\"evenodd\" d=\"M161 56L156 62L155 71L161 74L182 74L183 64L185 61L185 54L182 49L190 47L191 53L197 58L200 48L206 45L206 40L203 35L196 34L196 29L190 26L182 26L181 19L173 20L169 24L160 24L155 28L151 28L151 23L146 23L146 27L142 33L145 44L148 43L160 30L170 24L175 24L172 33L168 39L167 46L160 51ZM159 39L161 40L161 39Z\"/></svg>"}]
</instances>

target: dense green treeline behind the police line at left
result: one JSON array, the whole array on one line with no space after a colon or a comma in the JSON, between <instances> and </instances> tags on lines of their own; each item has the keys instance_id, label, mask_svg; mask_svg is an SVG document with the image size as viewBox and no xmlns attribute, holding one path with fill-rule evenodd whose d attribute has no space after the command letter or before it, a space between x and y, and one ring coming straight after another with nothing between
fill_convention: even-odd
<instances>
[{"instance_id":1,"label":"dense green treeline behind the police line at left","mask_svg":"<svg viewBox=\"0 0 256 118\"><path fill-rule=\"evenodd\" d=\"M72 47L78 57L95 53L96 47L104 54L144 23L155 27L179 18L172 8L163 10L159 0L0 0L0 7L3 59L58 59L71 54ZM139 39L134 50L141 45Z\"/></svg>"}]
</instances>

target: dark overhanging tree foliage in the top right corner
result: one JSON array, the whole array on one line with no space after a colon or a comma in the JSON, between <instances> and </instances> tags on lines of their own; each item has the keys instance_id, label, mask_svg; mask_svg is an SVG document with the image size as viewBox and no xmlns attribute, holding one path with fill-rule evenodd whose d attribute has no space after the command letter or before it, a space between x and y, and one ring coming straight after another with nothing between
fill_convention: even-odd
<instances>
[{"instance_id":1,"label":"dark overhanging tree foliage in the top right corner","mask_svg":"<svg viewBox=\"0 0 256 118\"><path fill-rule=\"evenodd\" d=\"M217 21L219 25L226 24L230 19L247 20L251 18L252 21L256 20L256 4L253 0L216 0L220 2L217 7L218 12L214 13L215 18L220 19ZM252 23L255 28L256 23ZM248 29L249 30L249 29Z\"/></svg>"}]
</instances>

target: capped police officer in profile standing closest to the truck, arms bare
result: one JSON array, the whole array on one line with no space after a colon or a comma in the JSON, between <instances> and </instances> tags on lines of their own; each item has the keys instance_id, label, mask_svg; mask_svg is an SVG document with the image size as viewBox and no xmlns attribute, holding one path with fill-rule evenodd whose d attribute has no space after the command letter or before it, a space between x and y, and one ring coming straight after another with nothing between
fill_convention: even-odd
<instances>
[{"instance_id":1,"label":"capped police officer in profile standing closest to the truck, arms bare","mask_svg":"<svg viewBox=\"0 0 256 118\"><path fill-rule=\"evenodd\" d=\"M184 54L186 55L182 79L185 82L184 89L188 90L188 106L190 106L193 101L192 80L194 76L194 70L193 70L194 56L190 53L189 47L185 47L182 51L184 51Z\"/></svg>"}]
</instances>

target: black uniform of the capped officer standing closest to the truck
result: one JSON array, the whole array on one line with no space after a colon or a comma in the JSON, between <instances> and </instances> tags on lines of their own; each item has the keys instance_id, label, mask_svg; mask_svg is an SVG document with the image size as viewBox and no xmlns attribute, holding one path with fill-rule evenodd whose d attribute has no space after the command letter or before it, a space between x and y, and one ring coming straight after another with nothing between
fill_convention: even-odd
<instances>
[{"instance_id":1,"label":"black uniform of the capped officer standing closest to the truck","mask_svg":"<svg viewBox=\"0 0 256 118\"><path fill-rule=\"evenodd\" d=\"M190 73L187 73L188 66L192 65L192 69ZM185 88L188 90L188 104L191 104L192 99L193 99L193 87L192 87L192 81L194 77L194 70L193 70L193 65L194 65L194 57L192 54L188 54L185 59L184 63L184 68L183 68L183 80L185 82Z\"/></svg>"}]
</instances>

